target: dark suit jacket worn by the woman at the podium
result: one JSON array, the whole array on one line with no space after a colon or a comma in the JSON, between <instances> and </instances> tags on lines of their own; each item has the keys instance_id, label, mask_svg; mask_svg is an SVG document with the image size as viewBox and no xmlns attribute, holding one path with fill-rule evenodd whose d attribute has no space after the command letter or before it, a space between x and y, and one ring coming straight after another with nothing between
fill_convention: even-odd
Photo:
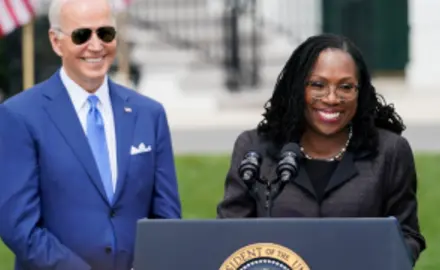
<instances>
[{"instance_id":1,"label":"dark suit jacket worn by the woman at the podium","mask_svg":"<svg viewBox=\"0 0 440 270\"><path fill-rule=\"evenodd\" d=\"M263 149L261 177L276 179L277 161L256 130L245 131L235 142L225 195L218 205L218 218L264 216L240 180L238 167L248 151ZM266 149L266 150L264 150ZM403 229L414 261L425 249L417 217L417 176L411 147L404 137L379 130L379 153L366 158L347 152L334 171L319 204L301 164L298 176L288 183L273 203L274 217L396 217Z\"/></svg>"}]
</instances>

